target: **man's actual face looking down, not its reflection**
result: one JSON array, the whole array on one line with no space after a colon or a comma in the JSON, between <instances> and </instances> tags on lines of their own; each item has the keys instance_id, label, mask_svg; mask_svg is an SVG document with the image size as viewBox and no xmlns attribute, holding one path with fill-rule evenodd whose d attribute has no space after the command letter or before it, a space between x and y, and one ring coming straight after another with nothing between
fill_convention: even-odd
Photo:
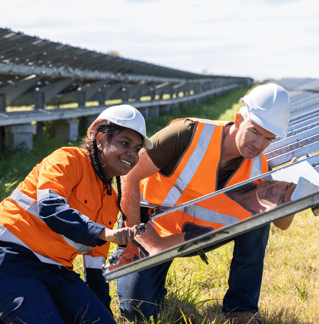
<instances>
[{"instance_id":1,"label":"man's actual face looking down, not its reflection","mask_svg":"<svg viewBox=\"0 0 319 324\"><path fill-rule=\"evenodd\" d=\"M249 117L243 120L240 113L236 115L235 127L237 149L247 159L259 155L276 138L276 135L257 125Z\"/></svg>"}]
</instances>

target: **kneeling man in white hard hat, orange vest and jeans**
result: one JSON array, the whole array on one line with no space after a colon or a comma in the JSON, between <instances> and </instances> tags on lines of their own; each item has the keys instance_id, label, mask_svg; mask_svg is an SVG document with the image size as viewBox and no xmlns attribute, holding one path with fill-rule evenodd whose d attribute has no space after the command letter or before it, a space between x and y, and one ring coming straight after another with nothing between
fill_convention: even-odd
<instances>
[{"instance_id":1,"label":"kneeling man in white hard hat, orange vest and jeans","mask_svg":"<svg viewBox=\"0 0 319 324\"><path fill-rule=\"evenodd\" d=\"M252 90L241 102L245 105L233 123L173 120L151 138L154 148L141 152L138 167L122 181L121 206L128 216L125 226L141 222L138 201L173 207L269 171L262 151L276 135L287 136L288 94L268 84ZM266 225L234 238L229 289L222 308L234 323L258 323L255 313L269 228ZM125 317L156 316L166 294L170 264L117 279L119 308Z\"/></svg>"}]
</instances>

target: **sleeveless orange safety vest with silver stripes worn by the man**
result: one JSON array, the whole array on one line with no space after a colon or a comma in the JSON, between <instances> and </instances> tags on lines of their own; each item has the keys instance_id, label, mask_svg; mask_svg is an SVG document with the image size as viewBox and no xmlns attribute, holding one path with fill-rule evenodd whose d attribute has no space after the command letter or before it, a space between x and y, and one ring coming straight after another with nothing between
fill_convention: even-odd
<instances>
[{"instance_id":1,"label":"sleeveless orange safety vest with silver stripes worn by the man","mask_svg":"<svg viewBox=\"0 0 319 324\"><path fill-rule=\"evenodd\" d=\"M141 202L144 204L171 208L216 191L224 126L228 122L188 119L195 121L194 131L174 173L165 176L157 172L140 181ZM174 119L171 123L178 120ZM253 159L243 159L225 187L267 172L268 164L263 153ZM153 222L156 225L156 219ZM163 234L175 232L175 229L168 228L157 230L163 230Z\"/></svg>"}]
</instances>

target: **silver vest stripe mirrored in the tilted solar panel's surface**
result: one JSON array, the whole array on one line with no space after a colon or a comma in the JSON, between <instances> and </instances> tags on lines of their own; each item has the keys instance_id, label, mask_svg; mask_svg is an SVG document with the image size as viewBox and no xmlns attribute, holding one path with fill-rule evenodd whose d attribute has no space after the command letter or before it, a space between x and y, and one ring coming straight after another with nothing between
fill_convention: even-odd
<instances>
[{"instance_id":1,"label":"silver vest stripe mirrored in the tilted solar panel's surface","mask_svg":"<svg viewBox=\"0 0 319 324\"><path fill-rule=\"evenodd\" d=\"M185 214L193 218L200 219L210 223L219 223L225 226L240 220L237 217L214 212L210 209L206 209L204 207L196 206L196 205L185 207L181 211L183 211Z\"/></svg>"}]
</instances>

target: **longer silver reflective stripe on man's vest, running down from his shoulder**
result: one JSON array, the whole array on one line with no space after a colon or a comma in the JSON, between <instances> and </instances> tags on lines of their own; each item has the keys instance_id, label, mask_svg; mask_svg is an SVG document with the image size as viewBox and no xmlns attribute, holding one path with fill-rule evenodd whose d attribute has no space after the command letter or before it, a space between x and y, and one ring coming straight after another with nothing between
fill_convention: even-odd
<instances>
[{"instance_id":1,"label":"longer silver reflective stripe on man's vest, running down from his shoulder","mask_svg":"<svg viewBox=\"0 0 319 324\"><path fill-rule=\"evenodd\" d=\"M167 207L175 206L177 200L181 197L183 191L188 186L192 177L196 173L198 166L200 166L204 155L206 154L211 138L213 136L215 127L216 126L213 124L204 125L194 151L187 160L183 171L179 175L178 179L175 181L174 186L168 192L161 205Z\"/></svg>"}]
</instances>

